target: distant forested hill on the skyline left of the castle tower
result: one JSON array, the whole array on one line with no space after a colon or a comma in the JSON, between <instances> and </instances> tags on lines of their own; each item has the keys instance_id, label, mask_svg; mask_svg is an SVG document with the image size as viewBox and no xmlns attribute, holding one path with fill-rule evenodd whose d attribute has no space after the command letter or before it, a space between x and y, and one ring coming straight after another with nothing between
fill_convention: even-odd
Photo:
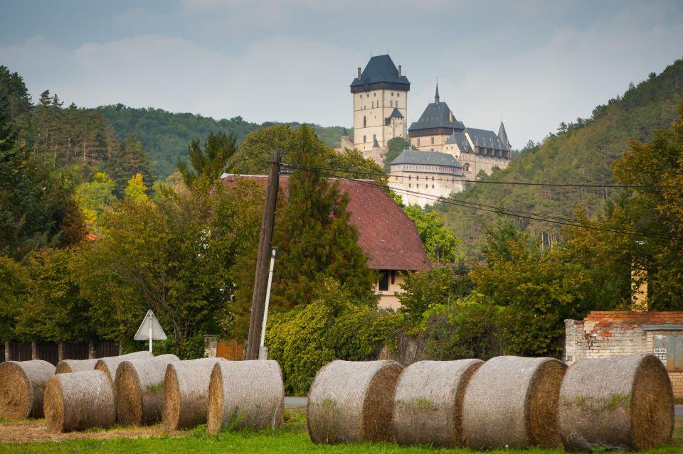
<instances>
[{"instance_id":1,"label":"distant forested hill on the skyline left of the castle tower","mask_svg":"<svg viewBox=\"0 0 683 454\"><path fill-rule=\"evenodd\" d=\"M162 109L134 109L123 104L98 107L97 110L109 119L114 126L118 140L128 134L135 134L142 146L149 152L152 171L159 178L165 178L177 170L177 158L187 158L187 146L192 140L203 142L210 132L232 133L242 141L244 136L257 129L275 123L250 123L242 117L216 120L194 114L174 114ZM288 123L296 127L297 123ZM312 126L319 139L329 146L339 146L342 126Z\"/></svg>"}]
</instances>

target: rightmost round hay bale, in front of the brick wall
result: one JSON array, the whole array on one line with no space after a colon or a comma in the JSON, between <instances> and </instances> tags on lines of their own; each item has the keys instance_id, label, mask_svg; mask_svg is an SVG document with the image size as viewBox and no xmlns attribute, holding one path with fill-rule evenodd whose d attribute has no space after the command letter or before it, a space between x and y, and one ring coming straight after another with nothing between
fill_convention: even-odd
<instances>
[{"instance_id":1,"label":"rightmost round hay bale, in front of the brick wall","mask_svg":"<svg viewBox=\"0 0 683 454\"><path fill-rule=\"evenodd\" d=\"M566 450L646 450L669 443L674 394L667 370L652 355L572 364L562 382L559 426Z\"/></svg>"}]
</instances>

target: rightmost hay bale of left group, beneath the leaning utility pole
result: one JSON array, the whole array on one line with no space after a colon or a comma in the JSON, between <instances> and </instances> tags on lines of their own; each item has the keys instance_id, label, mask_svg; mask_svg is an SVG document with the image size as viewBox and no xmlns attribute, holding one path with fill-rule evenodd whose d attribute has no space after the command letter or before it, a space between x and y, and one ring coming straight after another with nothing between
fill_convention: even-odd
<instances>
[{"instance_id":1,"label":"rightmost hay bale of left group, beneath the leaning utility pole","mask_svg":"<svg viewBox=\"0 0 683 454\"><path fill-rule=\"evenodd\" d=\"M221 361L208 385L209 433L221 428L278 428L285 412L285 385L277 361Z\"/></svg>"}]
</instances>

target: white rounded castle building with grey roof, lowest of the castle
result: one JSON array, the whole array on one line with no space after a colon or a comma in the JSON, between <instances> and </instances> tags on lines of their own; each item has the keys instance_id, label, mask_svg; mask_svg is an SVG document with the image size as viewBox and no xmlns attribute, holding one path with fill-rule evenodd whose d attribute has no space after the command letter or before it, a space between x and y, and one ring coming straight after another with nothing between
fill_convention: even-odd
<instances>
[{"instance_id":1,"label":"white rounded castle building with grey roof, lowest of the castle","mask_svg":"<svg viewBox=\"0 0 683 454\"><path fill-rule=\"evenodd\" d=\"M389 187L406 205L433 205L439 198L462 190L462 165L440 151L405 150L389 163Z\"/></svg>"}]
</instances>

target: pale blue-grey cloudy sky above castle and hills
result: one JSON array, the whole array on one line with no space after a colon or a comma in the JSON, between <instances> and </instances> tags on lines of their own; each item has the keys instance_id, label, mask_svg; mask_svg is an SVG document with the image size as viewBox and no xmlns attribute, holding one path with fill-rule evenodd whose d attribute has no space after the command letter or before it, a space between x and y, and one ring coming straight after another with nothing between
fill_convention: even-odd
<instances>
[{"instance_id":1,"label":"pale blue-grey cloudy sky above castle and hills","mask_svg":"<svg viewBox=\"0 0 683 454\"><path fill-rule=\"evenodd\" d=\"M440 98L514 148L683 58L683 1L0 0L0 65L65 104L352 126L389 53L408 122Z\"/></svg>"}]
</instances>

